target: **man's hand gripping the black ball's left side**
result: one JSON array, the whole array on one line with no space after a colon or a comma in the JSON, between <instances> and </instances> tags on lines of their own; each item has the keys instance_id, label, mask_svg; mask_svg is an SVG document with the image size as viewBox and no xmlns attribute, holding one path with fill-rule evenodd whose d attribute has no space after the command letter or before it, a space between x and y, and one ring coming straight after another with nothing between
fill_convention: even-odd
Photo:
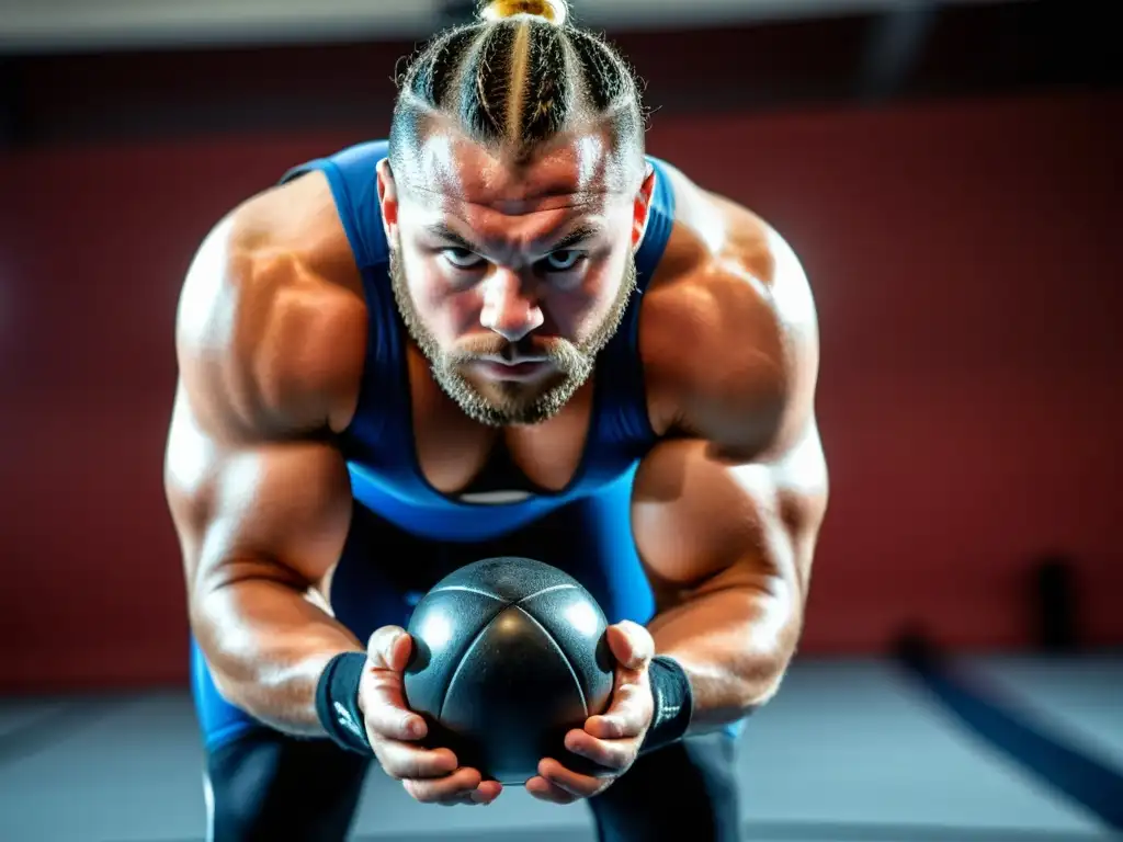
<instances>
[{"instance_id":1,"label":"man's hand gripping the black ball's left side","mask_svg":"<svg viewBox=\"0 0 1123 842\"><path fill-rule=\"evenodd\" d=\"M426 749L428 733L420 715L409 710L402 675L413 639L399 626L383 626L371 635L366 671L359 684L358 706L374 754L391 778L424 804L491 804L502 791L499 781L483 780L476 769L462 769L448 749Z\"/></svg>"}]
</instances>

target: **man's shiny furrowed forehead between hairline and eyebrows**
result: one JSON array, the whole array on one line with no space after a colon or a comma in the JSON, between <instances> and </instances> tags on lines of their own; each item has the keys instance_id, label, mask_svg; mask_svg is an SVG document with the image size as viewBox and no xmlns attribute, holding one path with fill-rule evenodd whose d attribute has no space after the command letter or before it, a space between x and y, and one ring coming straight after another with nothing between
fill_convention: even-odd
<instances>
[{"instance_id":1,"label":"man's shiny furrowed forehead between hairline and eyebrows","mask_svg":"<svg viewBox=\"0 0 1123 842\"><path fill-rule=\"evenodd\" d=\"M614 158L608 138L597 131L563 135L519 159L438 129L418 149L409 192L430 207L469 204L509 214L603 208L627 195Z\"/></svg>"}]
</instances>

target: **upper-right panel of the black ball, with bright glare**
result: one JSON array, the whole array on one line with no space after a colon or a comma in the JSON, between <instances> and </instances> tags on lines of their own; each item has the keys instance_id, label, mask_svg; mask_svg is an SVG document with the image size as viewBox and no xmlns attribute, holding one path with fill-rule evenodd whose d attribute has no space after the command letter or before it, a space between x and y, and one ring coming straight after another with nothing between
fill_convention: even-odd
<instances>
[{"instance_id":1,"label":"upper-right panel of the black ball, with bright glare","mask_svg":"<svg viewBox=\"0 0 1123 842\"><path fill-rule=\"evenodd\" d=\"M554 639L573 668L588 715L604 713L612 696L615 660L601 606L582 587L541 591L519 603Z\"/></svg>"}]
</instances>

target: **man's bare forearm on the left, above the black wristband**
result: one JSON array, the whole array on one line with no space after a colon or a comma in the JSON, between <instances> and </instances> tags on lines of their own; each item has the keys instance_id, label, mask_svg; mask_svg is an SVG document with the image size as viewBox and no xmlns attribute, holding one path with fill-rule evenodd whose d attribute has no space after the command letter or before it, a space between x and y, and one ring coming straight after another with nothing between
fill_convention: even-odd
<instances>
[{"instance_id":1,"label":"man's bare forearm on the left, above the black wristband","mask_svg":"<svg viewBox=\"0 0 1123 842\"><path fill-rule=\"evenodd\" d=\"M227 701L280 731L320 736L316 688L323 668L339 652L364 648L305 594L246 576L201 596L191 620Z\"/></svg>"}]
</instances>

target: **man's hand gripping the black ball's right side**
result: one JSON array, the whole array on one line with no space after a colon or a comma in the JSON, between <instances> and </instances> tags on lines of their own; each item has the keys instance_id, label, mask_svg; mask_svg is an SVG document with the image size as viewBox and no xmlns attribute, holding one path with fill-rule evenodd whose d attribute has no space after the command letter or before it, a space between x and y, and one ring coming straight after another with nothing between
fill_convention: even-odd
<instances>
[{"instance_id":1,"label":"man's hand gripping the black ball's right side","mask_svg":"<svg viewBox=\"0 0 1123 842\"><path fill-rule=\"evenodd\" d=\"M655 713L647 675L655 657L655 641L647 629L628 621L610 625L606 635L617 659L612 702L603 714L590 716L583 729L574 729L565 736L566 749L592 760L603 771L581 775L546 758L538 765L538 775L527 781L527 791L536 798L554 804L592 798L612 786L639 756Z\"/></svg>"}]
</instances>

